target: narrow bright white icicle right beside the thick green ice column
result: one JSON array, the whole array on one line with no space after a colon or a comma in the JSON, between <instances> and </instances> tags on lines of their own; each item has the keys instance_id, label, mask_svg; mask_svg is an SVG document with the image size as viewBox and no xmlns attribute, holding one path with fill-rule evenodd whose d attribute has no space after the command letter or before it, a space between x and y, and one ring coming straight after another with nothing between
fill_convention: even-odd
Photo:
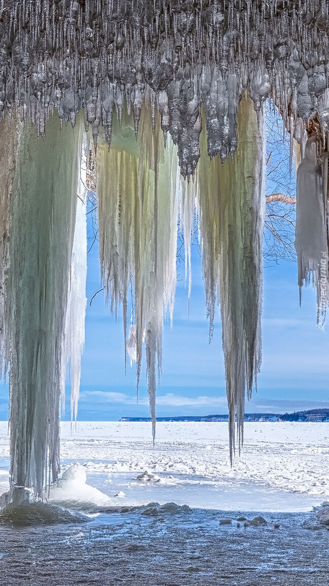
<instances>
[{"instance_id":1,"label":"narrow bright white icicle right beside the thick green ice column","mask_svg":"<svg viewBox=\"0 0 329 586\"><path fill-rule=\"evenodd\" d=\"M66 355L71 380L71 421L77 421L81 354L84 347L85 307L87 303L85 297L85 283L87 280L86 176L87 162L81 161L80 173L78 174L76 223L66 312Z\"/></svg>"}]
</instances>

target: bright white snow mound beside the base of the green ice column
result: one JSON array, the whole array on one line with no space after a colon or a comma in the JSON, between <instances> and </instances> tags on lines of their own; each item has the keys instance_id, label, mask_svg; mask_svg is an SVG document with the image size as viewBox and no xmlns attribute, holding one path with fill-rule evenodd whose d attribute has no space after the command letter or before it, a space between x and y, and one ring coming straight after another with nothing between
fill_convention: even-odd
<instances>
[{"instance_id":1,"label":"bright white snow mound beside the base of the green ice column","mask_svg":"<svg viewBox=\"0 0 329 586\"><path fill-rule=\"evenodd\" d=\"M84 466L73 464L49 489L47 501L68 509L98 512L101 507L114 505L103 492L87 484Z\"/></svg>"}]
</instances>

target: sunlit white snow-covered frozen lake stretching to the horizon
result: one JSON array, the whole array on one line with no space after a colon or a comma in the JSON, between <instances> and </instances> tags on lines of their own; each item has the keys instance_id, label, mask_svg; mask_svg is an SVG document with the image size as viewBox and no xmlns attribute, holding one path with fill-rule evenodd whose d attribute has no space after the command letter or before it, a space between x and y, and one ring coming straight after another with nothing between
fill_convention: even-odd
<instances>
[{"instance_id":1,"label":"sunlit white snow-covered frozen lake stretching to the horizon","mask_svg":"<svg viewBox=\"0 0 329 586\"><path fill-rule=\"evenodd\" d=\"M8 486L7 427L0 423L1 492ZM246 423L232 468L226 423L157 423L154 446L149 423L81 422L72 434L70 423L62 423L61 459L63 469L83 465L87 482L114 504L173 500L292 512L329 499L328 423Z\"/></svg>"}]
</instances>

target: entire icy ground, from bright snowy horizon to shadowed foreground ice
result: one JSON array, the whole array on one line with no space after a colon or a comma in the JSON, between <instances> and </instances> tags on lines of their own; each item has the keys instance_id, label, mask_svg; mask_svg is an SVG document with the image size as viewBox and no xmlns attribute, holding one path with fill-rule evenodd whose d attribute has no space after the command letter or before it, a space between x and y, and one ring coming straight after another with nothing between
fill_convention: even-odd
<instances>
[{"instance_id":1,"label":"entire icy ground, from bright snowy horizon to shadowed foreground ice","mask_svg":"<svg viewBox=\"0 0 329 586\"><path fill-rule=\"evenodd\" d=\"M227 435L159 423L153 446L146 423L63 423L46 499L71 513L0 516L1 586L328 586L311 509L329 498L329 424L247 423L232 468ZM8 466L1 423L1 492Z\"/></svg>"}]
</instances>

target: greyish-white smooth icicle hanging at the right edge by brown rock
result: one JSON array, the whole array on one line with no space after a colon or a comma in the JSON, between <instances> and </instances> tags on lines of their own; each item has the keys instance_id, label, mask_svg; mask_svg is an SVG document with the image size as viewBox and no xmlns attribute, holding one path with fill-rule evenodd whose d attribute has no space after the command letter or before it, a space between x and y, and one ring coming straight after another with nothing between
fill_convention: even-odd
<instances>
[{"instance_id":1,"label":"greyish-white smooth icicle hanging at the right edge by brown rock","mask_svg":"<svg viewBox=\"0 0 329 586\"><path fill-rule=\"evenodd\" d=\"M317 291L317 323L323 328L329 299L327 228L324 218L323 179L317 161L316 142L306 142L304 158L297 169L297 212L295 248L298 284L312 280Z\"/></svg>"}]
</instances>

